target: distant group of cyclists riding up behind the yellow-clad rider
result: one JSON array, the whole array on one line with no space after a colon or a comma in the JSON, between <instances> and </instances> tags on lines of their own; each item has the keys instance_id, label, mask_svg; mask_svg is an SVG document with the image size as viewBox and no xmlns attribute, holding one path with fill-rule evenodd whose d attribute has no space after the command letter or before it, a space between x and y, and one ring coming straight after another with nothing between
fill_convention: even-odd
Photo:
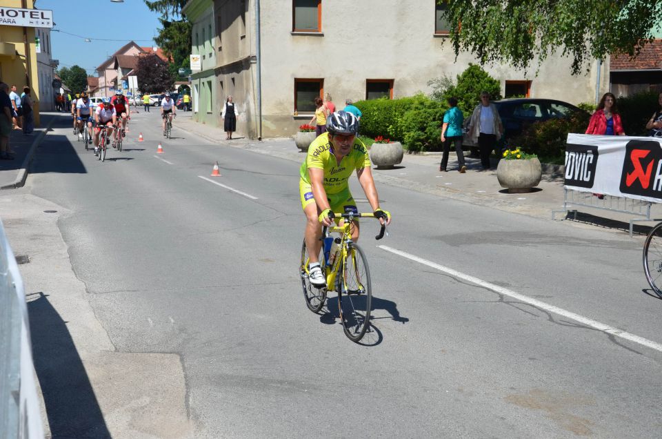
<instances>
[{"instance_id":1,"label":"distant group of cyclists riding up behind the yellow-clad rider","mask_svg":"<svg viewBox=\"0 0 662 439\"><path fill-rule=\"evenodd\" d=\"M163 135L165 135L166 119L172 125L172 117L177 115L177 106L174 105L170 93L166 92L161 101L161 118L163 119ZM72 99L71 116L73 119L74 135L83 137L83 130L87 128L90 139L94 144L94 155L99 155L99 134L102 127L107 130L107 144L112 138L112 147L115 148L119 136L126 137L126 127L131 119L129 99L122 90L117 90L110 101L103 101L96 108L92 106L90 97L86 92L77 93ZM83 127L85 126L85 128ZM92 132L94 128L94 132Z\"/></svg>"}]
</instances>

